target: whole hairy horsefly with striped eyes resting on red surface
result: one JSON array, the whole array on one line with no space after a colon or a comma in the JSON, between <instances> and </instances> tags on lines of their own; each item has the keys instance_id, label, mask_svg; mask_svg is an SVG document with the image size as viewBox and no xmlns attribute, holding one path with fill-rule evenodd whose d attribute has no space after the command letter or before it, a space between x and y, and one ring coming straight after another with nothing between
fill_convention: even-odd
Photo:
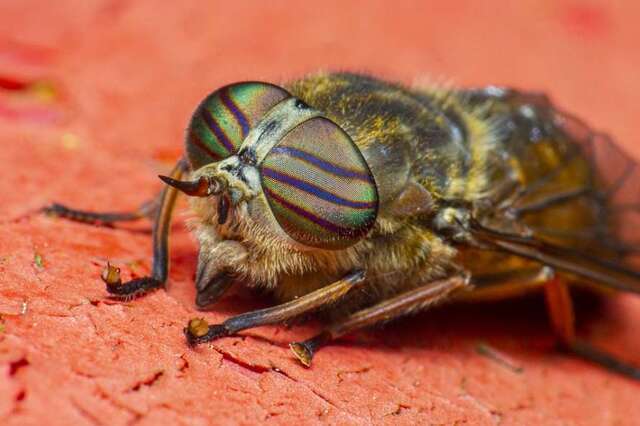
<instances>
[{"instance_id":1,"label":"whole hairy horsefly with striped eyes resting on red surface","mask_svg":"<svg viewBox=\"0 0 640 426\"><path fill-rule=\"evenodd\" d=\"M193 319L189 344L325 311L322 333L291 344L309 366L322 346L363 327L440 302L543 289L566 349L640 379L576 336L569 294L640 293L635 162L546 96L350 73L240 82L202 101L185 139L155 202L126 213L47 211L153 219L151 275L122 283L116 268L103 273L111 295L130 298L165 284L171 215L186 194L199 242L196 305L209 308L238 282L281 302L222 324Z\"/></svg>"}]
</instances>

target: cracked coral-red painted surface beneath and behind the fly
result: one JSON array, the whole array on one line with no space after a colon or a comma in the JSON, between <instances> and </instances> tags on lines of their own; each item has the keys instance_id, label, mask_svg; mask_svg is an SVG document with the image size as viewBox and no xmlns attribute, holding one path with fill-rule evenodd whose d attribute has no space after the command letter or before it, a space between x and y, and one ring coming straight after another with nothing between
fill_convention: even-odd
<instances>
[{"instance_id":1,"label":"cracked coral-red painted surface beneath and behind the fly","mask_svg":"<svg viewBox=\"0 0 640 426\"><path fill-rule=\"evenodd\" d=\"M196 247L181 224L169 292L106 299L107 259L148 272L148 225L34 210L138 205L180 155L191 109L230 81L324 68L540 89L640 156L632 2L231 3L2 2L0 423L637 424L640 385L555 352L539 301L423 314L326 348L311 369L287 343L314 325L192 350ZM239 292L206 317L267 303ZM590 310L580 332L640 363L640 299Z\"/></svg>"}]
</instances>

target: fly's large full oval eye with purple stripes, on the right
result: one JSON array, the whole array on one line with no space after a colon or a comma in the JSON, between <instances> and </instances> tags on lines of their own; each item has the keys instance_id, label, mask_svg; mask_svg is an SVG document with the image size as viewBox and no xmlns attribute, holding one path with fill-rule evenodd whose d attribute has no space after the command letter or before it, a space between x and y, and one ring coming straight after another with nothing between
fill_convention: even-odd
<instances>
[{"instance_id":1,"label":"fly's large full oval eye with purple stripes, on the right","mask_svg":"<svg viewBox=\"0 0 640 426\"><path fill-rule=\"evenodd\" d=\"M373 226L378 192L358 147L332 121L318 117L287 133L260 165L276 220L295 241L337 250Z\"/></svg>"}]
</instances>

